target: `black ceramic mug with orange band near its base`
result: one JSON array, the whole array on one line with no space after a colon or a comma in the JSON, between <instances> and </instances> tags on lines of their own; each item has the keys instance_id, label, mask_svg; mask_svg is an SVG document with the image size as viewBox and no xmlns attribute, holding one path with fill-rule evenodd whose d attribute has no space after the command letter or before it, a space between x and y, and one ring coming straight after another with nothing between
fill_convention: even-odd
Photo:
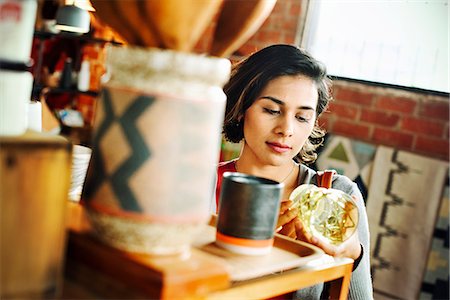
<instances>
[{"instance_id":1,"label":"black ceramic mug with orange band near its base","mask_svg":"<svg viewBox=\"0 0 450 300\"><path fill-rule=\"evenodd\" d=\"M252 175L223 174L216 243L235 253L267 254L272 249L284 184Z\"/></svg>"}]
</instances>

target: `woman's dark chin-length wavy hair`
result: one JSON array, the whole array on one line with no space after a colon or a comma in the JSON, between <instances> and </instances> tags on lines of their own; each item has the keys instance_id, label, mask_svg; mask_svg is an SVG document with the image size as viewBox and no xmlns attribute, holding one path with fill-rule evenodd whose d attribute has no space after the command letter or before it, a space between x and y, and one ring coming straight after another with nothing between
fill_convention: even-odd
<instances>
[{"instance_id":1,"label":"woman's dark chin-length wavy hair","mask_svg":"<svg viewBox=\"0 0 450 300\"><path fill-rule=\"evenodd\" d=\"M269 46L237 63L224 86L227 105L223 133L228 141L238 143L244 138L245 111L271 80L285 75L303 75L312 79L318 90L317 117L326 110L331 100L331 80L325 66L295 46ZM314 129L297 159L304 163L314 162L317 158L315 150L323 143L324 135L316 118Z\"/></svg>"}]
</instances>

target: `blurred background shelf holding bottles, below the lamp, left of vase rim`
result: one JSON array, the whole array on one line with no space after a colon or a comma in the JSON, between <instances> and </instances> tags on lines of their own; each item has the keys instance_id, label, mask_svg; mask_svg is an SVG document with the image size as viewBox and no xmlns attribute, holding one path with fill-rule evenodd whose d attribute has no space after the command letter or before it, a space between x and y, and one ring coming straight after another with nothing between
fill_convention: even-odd
<instances>
[{"instance_id":1,"label":"blurred background shelf holding bottles, below the lamp, left of vase rim","mask_svg":"<svg viewBox=\"0 0 450 300\"><path fill-rule=\"evenodd\" d=\"M35 31L32 51L35 98L45 87L49 87L52 93L96 96L100 76L105 69L106 44L121 45L115 40L92 37L89 33ZM73 82L77 78L84 79L81 86L80 82Z\"/></svg>"}]
</instances>

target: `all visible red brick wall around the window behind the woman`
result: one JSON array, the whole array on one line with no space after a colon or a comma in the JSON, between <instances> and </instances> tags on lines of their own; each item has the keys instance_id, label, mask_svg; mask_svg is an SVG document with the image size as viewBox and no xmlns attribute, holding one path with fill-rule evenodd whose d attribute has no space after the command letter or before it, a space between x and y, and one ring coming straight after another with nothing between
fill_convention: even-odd
<instances>
[{"instance_id":1,"label":"all visible red brick wall around the window behind the woman","mask_svg":"<svg viewBox=\"0 0 450 300\"><path fill-rule=\"evenodd\" d=\"M258 32L235 54L248 55L275 43L295 42L301 0L278 0ZM422 92L336 80L328 132L449 160L449 99Z\"/></svg>"}]
</instances>

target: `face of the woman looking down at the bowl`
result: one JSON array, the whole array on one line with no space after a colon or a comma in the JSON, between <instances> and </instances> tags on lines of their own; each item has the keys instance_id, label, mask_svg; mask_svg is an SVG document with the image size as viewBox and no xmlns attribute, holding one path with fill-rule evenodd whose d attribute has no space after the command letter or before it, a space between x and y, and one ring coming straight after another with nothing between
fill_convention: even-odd
<instances>
[{"instance_id":1,"label":"face of the woman looking down at the bowl","mask_svg":"<svg viewBox=\"0 0 450 300\"><path fill-rule=\"evenodd\" d=\"M306 76L271 80L245 112L242 155L258 165L292 163L314 128L317 101L317 87Z\"/></svg>"}]
</instances>

